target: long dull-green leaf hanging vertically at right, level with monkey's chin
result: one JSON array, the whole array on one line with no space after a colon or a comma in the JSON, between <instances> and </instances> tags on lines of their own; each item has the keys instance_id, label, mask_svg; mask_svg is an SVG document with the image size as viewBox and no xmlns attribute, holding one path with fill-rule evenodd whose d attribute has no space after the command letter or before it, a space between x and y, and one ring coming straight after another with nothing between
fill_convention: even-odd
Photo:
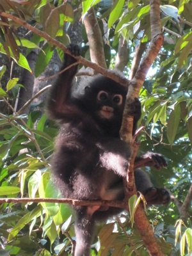
<instances>
[{"instance_id":1,"label":"long dull-green leaf hanging vertically at right, level with monkey's chin","mask_svg":"<svg viewBox=\"0 0 192 256\"><path fill-rule=\"evenodd\" d=\"M167 137L170 145L173 144L175 140L175 135L177 134L177 129L179 127L180 122L180 105L175 105L175 108L170 113L170 117L168 119L167 125Z\"/></svg>"}]
</instances>

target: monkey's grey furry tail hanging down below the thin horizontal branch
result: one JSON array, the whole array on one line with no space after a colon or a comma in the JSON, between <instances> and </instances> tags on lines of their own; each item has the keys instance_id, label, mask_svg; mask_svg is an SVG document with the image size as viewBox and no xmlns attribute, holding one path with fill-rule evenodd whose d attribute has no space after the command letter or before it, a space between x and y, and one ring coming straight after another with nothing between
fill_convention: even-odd
<instances>
[{"instance_id":1,"label":"monkey's grey furry tail hanging down below the thin horizontal branch","mask_svg":"<svg viewBox=\"0 0 192 256\"><path fill-rule=\"evenodd\" d=\"M95 221L87 213L87 207L81 208L76 214L76 250L75 256L90 256L90 247L95 230Z\"/></svg>"}]
</instances>

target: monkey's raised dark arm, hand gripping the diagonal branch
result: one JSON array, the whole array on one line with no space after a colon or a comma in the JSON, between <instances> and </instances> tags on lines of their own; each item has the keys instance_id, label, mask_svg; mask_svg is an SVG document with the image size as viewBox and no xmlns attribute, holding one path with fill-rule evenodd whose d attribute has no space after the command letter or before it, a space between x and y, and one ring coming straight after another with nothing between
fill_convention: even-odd
<instances>
[{"instance_id":1,"label":"monkey's raised dark arm, hand gripping the diagonal branch","mask_svg":"<svg viewBox=\"0 0 192 256\"><path fill-rule=\"evenodd\" d=\"M70 44L68 49L74 54L74 56L79 56L79 47L78 45ZM76 59L72 56L65 54L63 66L61 70L67 68L68 66L76 63ZM70 89L72 86L72 81L77 72L77 66L74 65L68 68L66 71L62 72L55 83L52 84L51 89L49 90L49 96L47 99L47 111L49 115L54 119L63 118L65 112L69 110L67 106L67 100L70 97ZM76 108L71 106L70 111L75 111Z\"/></svg>"}]
</instances>

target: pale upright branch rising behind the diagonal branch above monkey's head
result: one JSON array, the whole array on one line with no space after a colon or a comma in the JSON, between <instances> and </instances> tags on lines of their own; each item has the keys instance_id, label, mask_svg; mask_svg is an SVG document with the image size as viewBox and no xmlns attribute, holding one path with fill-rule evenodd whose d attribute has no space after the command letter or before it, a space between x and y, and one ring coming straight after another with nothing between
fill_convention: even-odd
<instances>
[{"instance_id":1,"label":"pale upright branch rising behind the diagonal branch above monkey's head","mask_svg":"<svg viewBox=\"0 0 192 256\"><path fill-rule=\"evenodd\" d=\"M90 44L91 60L101 67L107 68L102 34L93 7L88 10L83 21L86 29L86 35L88 36L88 42Z\"/></svg>"}]
</instances>

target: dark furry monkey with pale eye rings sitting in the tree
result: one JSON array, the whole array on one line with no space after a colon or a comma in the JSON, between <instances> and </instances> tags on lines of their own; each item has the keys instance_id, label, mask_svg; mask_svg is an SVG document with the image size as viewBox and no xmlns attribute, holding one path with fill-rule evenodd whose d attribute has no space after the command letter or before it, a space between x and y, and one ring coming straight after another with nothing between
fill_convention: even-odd
<instances>
[{"instance_id":1,"label":"dark furry monkey with pale eye rings sitting in the tree","mask_svg":"<svg viewBox=\"0 0 192 256\"><path fill-rule=\"evenodd\" d=\"M68 49L80 55L77 45ZM77 65L65 53L63 67L47 97L47 112L56 120L60 131L52 156L52 179L64 198L78 200L124 200L123 177L127 175L131 147L120 139L119 131L125 107L127 88L108 77L97 75L84 86L82 95L72 94ZM131 106L134 116L132 134L141 116L140 100ZM166 166L161 154L147 152L136 157L152 159L159 169ZM136 188L147 198L147 204L168 204L170 195L163 188L154 188L145 172L134 170ZM115 216L123 209L100 205L75 206L75 256L90 255L95 224Z\"/></svg>"}]
</instances>

